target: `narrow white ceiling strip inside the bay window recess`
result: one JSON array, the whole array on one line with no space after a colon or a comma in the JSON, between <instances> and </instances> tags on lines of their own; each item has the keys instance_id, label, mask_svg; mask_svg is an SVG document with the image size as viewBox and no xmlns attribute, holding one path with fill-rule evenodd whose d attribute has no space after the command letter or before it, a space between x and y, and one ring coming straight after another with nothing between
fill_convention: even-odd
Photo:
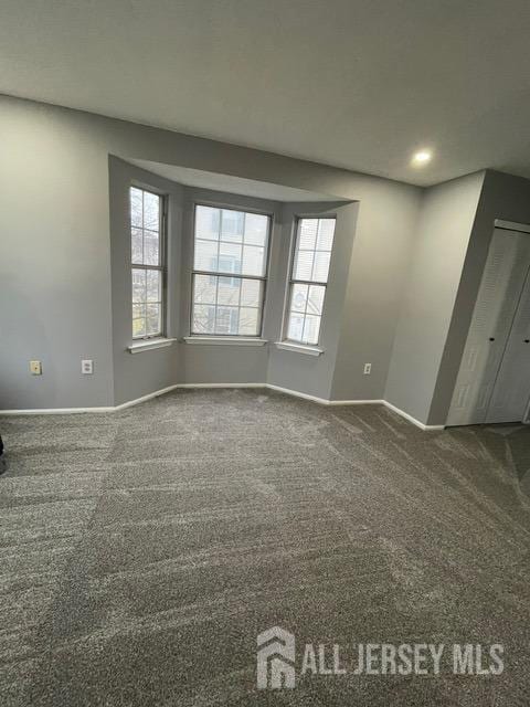
<instances>
[{"instance_id":1,"label":"narrow white ceiling strip inside the bay window recess","mask_svg":"<svg viewBox=\"0 0 530 707\"><path fill-rule=\"evenodd\" d=\"M206 172L202 169L162 165L160 162L151 162L147 159L129 159L127 161L187 187L225 191L232 194L269 199L271 201L343 201L341 197L321 194L316 191L306 191L305 189L294 189L293 187L283 187L282 184L256 181L255 179L243 179L242 177L232 177L231 175Z\"/></svg>"}]
</instances>

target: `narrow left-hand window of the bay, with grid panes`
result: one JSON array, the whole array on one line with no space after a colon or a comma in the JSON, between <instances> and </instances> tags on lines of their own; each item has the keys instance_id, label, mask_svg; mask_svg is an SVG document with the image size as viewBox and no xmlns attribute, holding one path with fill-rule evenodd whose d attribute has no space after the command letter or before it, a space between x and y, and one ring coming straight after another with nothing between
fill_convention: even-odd
<instances>
[{"instance_id":1,"label":"narrow left-hand window of the bay, with grid panes","mask_svg":"<svg viewBox=\"0 0 530 707\"><path fill-rule=\"evenodd\" d=\"M162 336L165 307L163 198L131 187L132 338Z\"/></svg>"}]
</instances>

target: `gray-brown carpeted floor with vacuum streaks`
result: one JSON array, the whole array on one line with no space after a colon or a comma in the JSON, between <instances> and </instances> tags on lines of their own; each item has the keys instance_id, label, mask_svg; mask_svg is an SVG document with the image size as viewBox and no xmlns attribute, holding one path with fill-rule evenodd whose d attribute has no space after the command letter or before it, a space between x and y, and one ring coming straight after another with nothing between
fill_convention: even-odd
<instances>
[{"instance_id":1,"label":"gray-brown carpeted floor with vacuum streaks","mask_svg":"<svg viewBox=\"0 0 530 707\"><path fill-rule=\"evenodd\" d=\"M4 418L0 705L530 704L530 429L181 391ZM256 635L501 643L499 676L256 689Z\"/></svg>"}]
</instances>

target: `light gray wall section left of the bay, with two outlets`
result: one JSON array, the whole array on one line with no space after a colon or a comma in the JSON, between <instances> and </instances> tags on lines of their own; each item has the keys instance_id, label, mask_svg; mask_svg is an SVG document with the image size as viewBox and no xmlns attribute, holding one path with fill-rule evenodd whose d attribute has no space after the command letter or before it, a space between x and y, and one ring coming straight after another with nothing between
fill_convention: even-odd
<instances>
[{"instance_id":1,"label":"light gray wall section left of the bay, with two outlets","mask_svg":"<svg viewBox=\"0 0 530 707\"><path fill-rule=\"evenodd\" d=\"M74 116L0 99L0 409L114 404L108 152Z\"/></svg>"}]
</instances>

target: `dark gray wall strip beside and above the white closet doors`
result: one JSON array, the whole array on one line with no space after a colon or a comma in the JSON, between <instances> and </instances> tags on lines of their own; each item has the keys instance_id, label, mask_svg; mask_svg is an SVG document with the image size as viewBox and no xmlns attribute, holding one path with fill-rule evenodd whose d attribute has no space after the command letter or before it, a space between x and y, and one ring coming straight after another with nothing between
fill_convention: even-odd
<instances>
[{"instance_id":1,"label":"dark gray wall strip beside and above the white closet doors","mask_svg":"<svg viewBox=\"0 0 530 707\"><path fill-rule=\"evenodd\" d=\"M475 218L451 328L428 415L445 424L496 219L530 224L530 180L488 170Z\"/></svg>"}]
</instances>

